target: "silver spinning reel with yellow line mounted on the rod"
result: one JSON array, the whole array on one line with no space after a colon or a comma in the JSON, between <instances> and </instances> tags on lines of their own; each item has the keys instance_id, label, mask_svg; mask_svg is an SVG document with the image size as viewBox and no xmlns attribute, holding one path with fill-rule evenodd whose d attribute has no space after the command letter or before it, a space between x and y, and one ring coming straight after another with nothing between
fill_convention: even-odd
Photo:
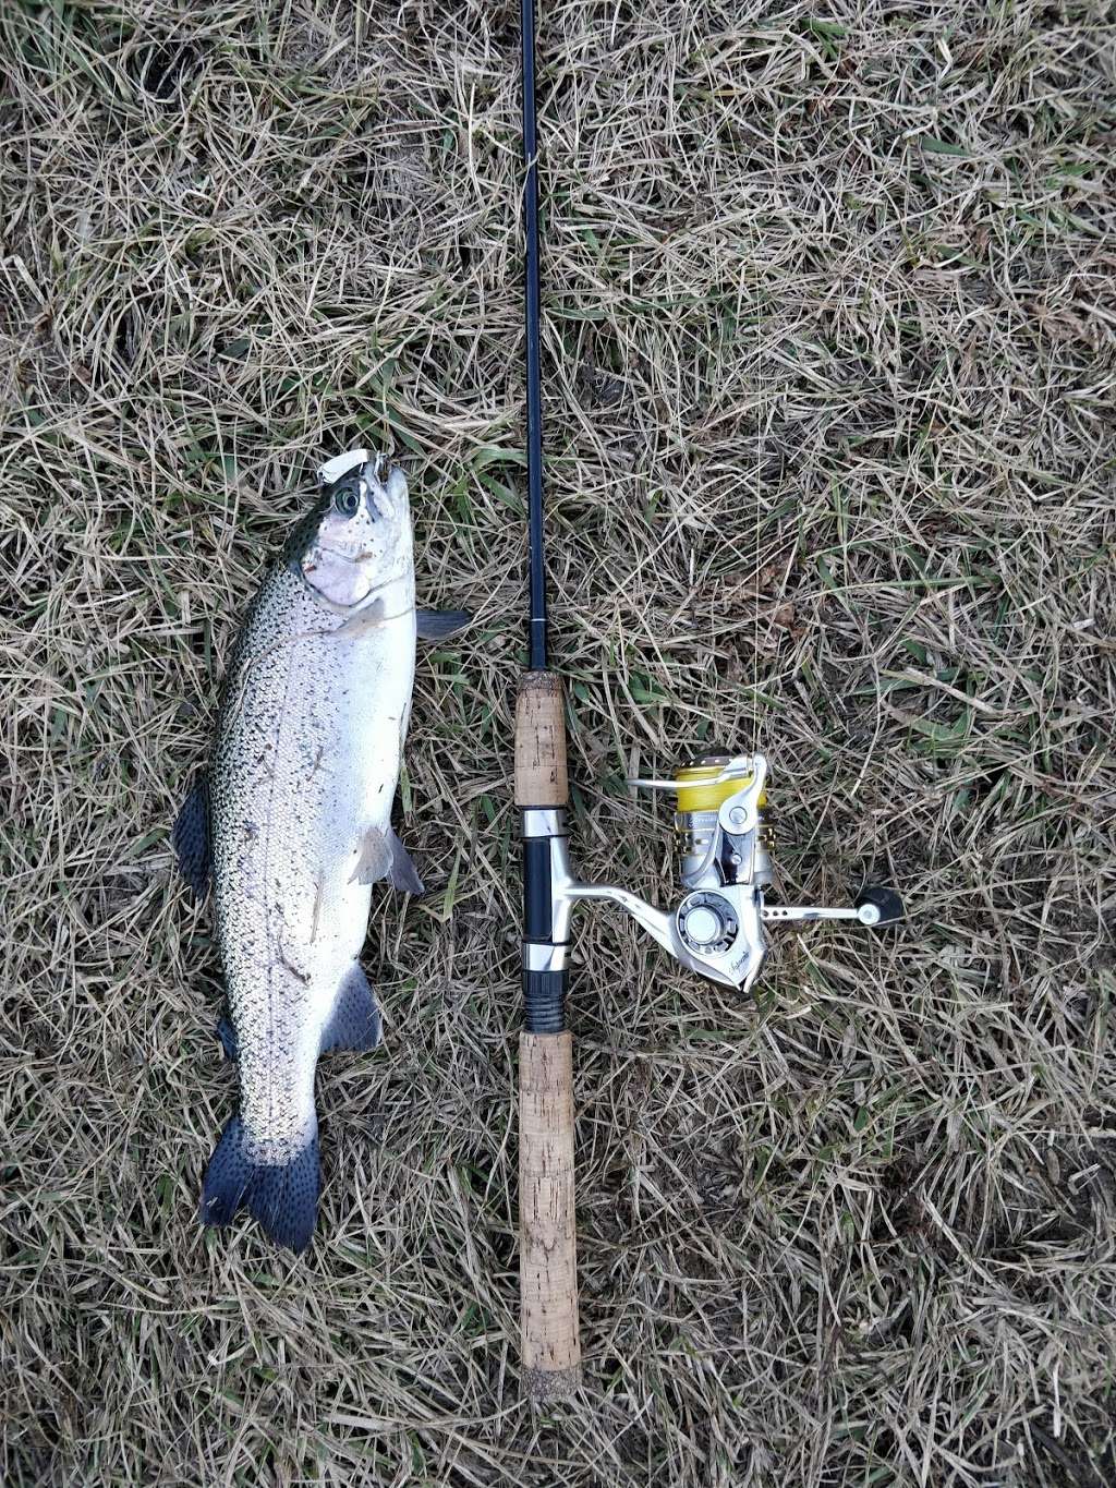
<instances>
[{"instance_id":1,"label":"silver spinning reel with yellow line mounted on the rod","mask_svg":"<svg viewBox=\"0 0 1116 1488\"><path fill-rule=\"evenodd\" d=\"M766 783L762 754L723 753L689 760L674 780L631 781L677 798L674 830L686 893L673 911L655 909L615 884L582 882L570 866L564 811L525 809L525 882L534 885L534 894L528 890L524 939L528 1000L531 972L565 970L570 914L579 900L620 905L683 966L740 991L750 990L763 966L769 924L856 920L878 930L902 920L902 902L890 888L866 888L856 905L841 909L765 902L772 881ZM536 937L533 927L546 931L548 924L549 934Z\"/></svg>"}]
</instances>

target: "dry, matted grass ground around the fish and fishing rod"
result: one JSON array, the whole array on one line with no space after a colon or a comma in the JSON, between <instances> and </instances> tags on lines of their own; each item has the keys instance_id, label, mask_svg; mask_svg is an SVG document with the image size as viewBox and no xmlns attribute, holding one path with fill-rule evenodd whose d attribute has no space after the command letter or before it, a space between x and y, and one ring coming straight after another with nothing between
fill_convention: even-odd
<instances>
[{"instance_id":1,"label":"dry, matted grass ground around the fish and fishing rod","mask_svg":"<svg viewBox=\"0 0 1116 1488\"><path fill-rule=\"evenodd\" d=\"M580 923L586 1393L516 1381L522 658L509 3L0 7L4 1484L1116 1475L1106 4L555 0L555 652L580 862L625 775L771 756L759 1003ZM412 478L426 656L293 1260L202 1234L234 1100L167 829L307 478Z\"/></svg>"}]
</instances>

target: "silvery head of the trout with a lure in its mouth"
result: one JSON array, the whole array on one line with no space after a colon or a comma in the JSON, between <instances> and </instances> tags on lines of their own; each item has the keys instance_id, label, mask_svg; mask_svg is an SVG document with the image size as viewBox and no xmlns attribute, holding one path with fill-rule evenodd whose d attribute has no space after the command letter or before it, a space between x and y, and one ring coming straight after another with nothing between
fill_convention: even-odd
<instances>
[{"instance_id":1,"label":"silvery head of the trout with a lure in its mouth","mask_svg":"<svg viewBox=\"0 0 1116 1488\"><path fill-rule=\"evenodd\" d=\"M341 473L330 479L338 466ZM321 476L321 498L295 533L287 558L314 594L351 610L414 570L406 476L382 455L348 469L342 457Z\"/></svg>"}]
</instances>

